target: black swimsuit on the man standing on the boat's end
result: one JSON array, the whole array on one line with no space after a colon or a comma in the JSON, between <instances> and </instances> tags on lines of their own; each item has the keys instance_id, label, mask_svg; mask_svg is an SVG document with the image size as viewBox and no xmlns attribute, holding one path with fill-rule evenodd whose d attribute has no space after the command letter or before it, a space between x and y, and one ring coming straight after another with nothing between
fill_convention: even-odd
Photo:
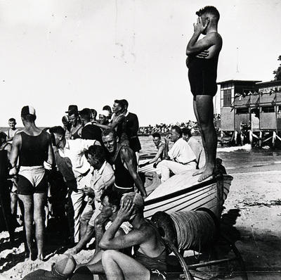
<instances>
[{"instance_id":1,"label":"black swimsuit on the man standing on the boat's end","mask_svg":"<svg viewBox=\"0 0 281 280\"><path fill-rule=\"evenodd\" d=\"M215 96L218 86L216 84L216 72L218 56L211 59L189 58L188 79L193 100L197 95Z\"/></svg>"}]
</instances>

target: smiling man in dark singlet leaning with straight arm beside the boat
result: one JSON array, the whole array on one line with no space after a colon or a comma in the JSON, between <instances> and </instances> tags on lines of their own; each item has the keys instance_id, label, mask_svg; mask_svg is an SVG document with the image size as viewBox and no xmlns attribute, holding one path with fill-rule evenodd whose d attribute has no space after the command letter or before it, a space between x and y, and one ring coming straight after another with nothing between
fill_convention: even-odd
<instances>
[{"instance_id":1,"label":"smiling man in dark singlet leaning with straight arm beside the boat","mask_svg":"<svg viewBox=\"0 0 281 280\"><path fill-rule=\"evenodd\" d=\"M146 197L143 182L137 172L136 155L133 150L119 143L115 129L105 129L102 132L102 139L105 148L110 153L110 163L114 165L115 186L113 189L119 193L129 193L134 190L135 184L141 195Z\"/></svg>"}]
</instances>

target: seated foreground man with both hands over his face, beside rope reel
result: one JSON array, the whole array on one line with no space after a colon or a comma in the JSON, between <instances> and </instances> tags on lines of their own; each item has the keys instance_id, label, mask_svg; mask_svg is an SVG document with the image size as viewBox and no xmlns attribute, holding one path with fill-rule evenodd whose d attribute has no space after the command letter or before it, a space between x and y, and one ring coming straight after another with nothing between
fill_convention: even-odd
<instances>
[{"instance_id":1,"label":"seated foreground man with both hands over his face, beside rope reel","mask_svg":"<svg viewBox=\"0 0 281 280\"><path fill-rule=\"evenodd\" d=\"M143 217L144 201L139 193L126 193L117 217L103 234L100 248L103 269L107 280L111 279L166 279L166 248L152 222ZM133 230L123 236L115 236L120 225L130 221ZM117 250L135 247L135 257Z\"/></svg>"}]
</instances>

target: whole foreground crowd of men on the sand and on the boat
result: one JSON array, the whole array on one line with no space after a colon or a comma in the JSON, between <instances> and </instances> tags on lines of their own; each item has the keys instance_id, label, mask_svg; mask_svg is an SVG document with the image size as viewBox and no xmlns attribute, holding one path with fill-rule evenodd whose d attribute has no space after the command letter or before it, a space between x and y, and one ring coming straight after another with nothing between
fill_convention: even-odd
<instances>
[{"instance_id":1,"label":"whole foreground crowd of men on the sand and on the boat","mask_svg":"<svg viewBox=\"0 0 281 280\"><path fill-rule=\"evenodd\" d=\"M164 142L160 134L153 134L158 152L140 167L158 167L162 182L171 173L186 170L195 170L193 175L200 175L198 181L202 182L214 174L216 165L225 172L221 160L216 160L212 101L222 46L217 32L219 13L207 6L197 15L186 54L204 149L187 128L171 127ZM206 36L199 39L200 34ZM7 134L0 134L1 208L13 243L19 203L30 259L36 254L37 259L44 260L46 210L52 212L58 207L52 196L61 194L63 198L67 194L69 253L78 253L93 236L96 240L95 254L77 267L73 279L87 279L86 275L91 279L93 274L105 274L107 279L166 279L165 246L154 224L143 217L147 193L138 174L138 117L129 113L128 106L125 99L115 100L112 110L105 106L96 120L96 110L78 110L70 105L62 119L63 127L43 130L35 125L34 108L24 106L24 129L19 132L11 118ZM58 191L63 184L66 193ZM126 252L131 247L135 247L134 257Z\"/></svg>"}]
</instances>

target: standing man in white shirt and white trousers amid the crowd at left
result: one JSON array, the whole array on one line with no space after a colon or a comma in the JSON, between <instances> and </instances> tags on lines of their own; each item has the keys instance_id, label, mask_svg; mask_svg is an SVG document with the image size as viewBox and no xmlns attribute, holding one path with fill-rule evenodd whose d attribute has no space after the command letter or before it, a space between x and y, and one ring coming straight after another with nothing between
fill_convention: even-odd
<instances>
[{"instance_id":1,"label":"standing man in white shirt and white trousers amid the crowd at left","mask_svg":"<svg viewBox=\"0 0 281 280\"><path fill-rule=\"evenodd\" d=\"M63 127L51 127L50 133L58 170L65 177L67 186L70 187L68 196L71 207L69 209L74 211L73 235L74 243L77 243L79 241L81 207L86 196L83 189L85 186L90 186L92 177L91 165L86 160L85 151L89 149L89 146L100 146L100 142L86 139L65 139ZM70 179L67 180L67 177ZM68 218L70 219L70 217Z\"/></svg>"}]
</instances>

